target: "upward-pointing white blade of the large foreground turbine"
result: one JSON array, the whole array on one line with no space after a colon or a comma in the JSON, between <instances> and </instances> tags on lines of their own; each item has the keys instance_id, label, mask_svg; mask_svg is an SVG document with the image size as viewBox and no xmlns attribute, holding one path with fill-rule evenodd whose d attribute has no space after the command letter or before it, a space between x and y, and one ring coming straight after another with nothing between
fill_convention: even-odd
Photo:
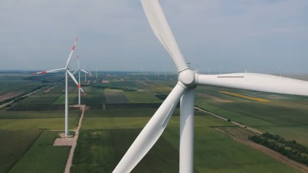
<instances>
[{"instance_id":1,"label":"upward-pointing white blade of the large foreground turbine","mask_svg":"<svg viewBox=\"0 0 308 173\"><path fill-rule=\"evenodd\" d=\"M178 71L188 68L158 0L141 0L147 20Z\"/></svg>"}]
</instances>

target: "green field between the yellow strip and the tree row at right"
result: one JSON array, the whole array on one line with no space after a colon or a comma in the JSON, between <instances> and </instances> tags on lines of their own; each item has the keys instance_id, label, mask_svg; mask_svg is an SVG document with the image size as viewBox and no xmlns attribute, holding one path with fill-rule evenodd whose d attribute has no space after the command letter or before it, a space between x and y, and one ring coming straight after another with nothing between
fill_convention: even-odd
<instances>
[{"instance_id":1,"label":"green field between the yellow strip and the tree row at right","mask_svg":"<svg viewBox=\"0 0 308 173\"><path fill-rule=\"evenodd\" d=\"M308 146L305 133L308 130L308 108L305 104L306 101L196 102L199 107L217 115Z\"/></svg>"}]
</instances>

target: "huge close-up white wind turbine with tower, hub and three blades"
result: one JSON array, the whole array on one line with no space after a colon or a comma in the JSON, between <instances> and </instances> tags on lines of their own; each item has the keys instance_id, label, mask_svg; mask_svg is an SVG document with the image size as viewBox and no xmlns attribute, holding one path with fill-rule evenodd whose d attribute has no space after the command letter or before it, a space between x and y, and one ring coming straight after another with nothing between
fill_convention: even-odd
<instances>
[{"instance_id":1,"label":"huge close-up white wind turbine with tower, hub and three blades","mask_svg":"<svg viewBox=\"0 0 308 173\"><path fill-rule=\"evenodd\" d=\"M194 98L197 85L308 96L308 81L257 73L196 73L187 66L158 0L141 0L141 4L152 30L177 67L179 79L115 167L114 173L130 172L139 163L164 132L179 100L179 172L194 172Z\"/></svg>"}]
</instances>

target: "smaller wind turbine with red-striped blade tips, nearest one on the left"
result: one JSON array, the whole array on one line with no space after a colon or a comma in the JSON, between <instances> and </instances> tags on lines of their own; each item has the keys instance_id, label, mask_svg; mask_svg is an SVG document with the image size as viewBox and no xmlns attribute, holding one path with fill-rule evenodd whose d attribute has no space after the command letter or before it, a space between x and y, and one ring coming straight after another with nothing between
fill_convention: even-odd
<instances>
[{"instance_id":1,"label":"smaller wind turbine with red-striped blade tips, nearest one on the left","mask_svg":"<svg viewBox=\"0 0 308 173\"><path fill-rule=\"evenodd\" d=\"M68 56L68 59L66 61L66 65L65 65L64 68L33 73L33 74L41 74L41 73L55 73L55 72L65 71L65 136L66 137L68 136L68 89L67 89L68 82L67 82L67 74L74 80L74 82L77 84L78 88L84 93L84 95L86 95L86 93L83 91L80 84L77 82L74 75L69 71L69 68L68 68L70 58L71 58L71 55L73 54L73 52L75 50L75 45L76 45L77 40L78 40L78 37L76 38L76 40L74 42L74 46L73 46L73 48L72 48L72 50L71 50L71 52Z\"/></svg>"}]
</instances>

